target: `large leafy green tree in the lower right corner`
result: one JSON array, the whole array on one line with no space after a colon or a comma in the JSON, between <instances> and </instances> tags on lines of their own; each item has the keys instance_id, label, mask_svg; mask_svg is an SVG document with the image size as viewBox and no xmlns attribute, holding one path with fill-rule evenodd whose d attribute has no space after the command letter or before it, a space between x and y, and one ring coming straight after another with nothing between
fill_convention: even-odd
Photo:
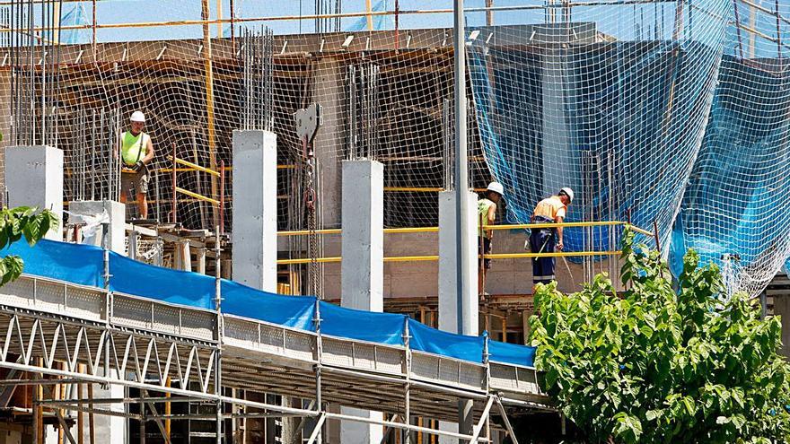
<instances>
[{"instance_id":1,"label":"large leafy green tree in the lower right corner","mask_svg":"<svg viewBox=\"0 0 790 444\"><path fill-rule=\"evenodd\" d=\"M592 442L790 442L781 324L689 251L672 288L656 251L623 241L617 294L605 274L581 292L535 293L544 388Z\"/></svg>"}]
</instances>

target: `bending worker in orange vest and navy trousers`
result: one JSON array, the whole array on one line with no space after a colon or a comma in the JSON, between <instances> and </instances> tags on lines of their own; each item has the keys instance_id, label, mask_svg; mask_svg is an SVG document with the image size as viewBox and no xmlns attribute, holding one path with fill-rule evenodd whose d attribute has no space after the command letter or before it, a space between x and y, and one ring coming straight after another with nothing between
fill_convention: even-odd
<instances>
[{"instance_id":1,"label":"bending worker in orange vest and navy trousers","mask_svg":"<svg viewBox=\"0 0 790 444\"><path fill-rule=\"evenodd\" d=\"M567 206L574 200L574 190L562 188L557 196L543 199L532 212L532 223L562 223ZM555 243L555 234L557 240ZM533 228L530 233L529 247L532 253L553 253L555 248L562 250L562 227ZM532 283L550 283L555 280L554 257L534 257L532 259Z\"/></svg>"}]
</instances>

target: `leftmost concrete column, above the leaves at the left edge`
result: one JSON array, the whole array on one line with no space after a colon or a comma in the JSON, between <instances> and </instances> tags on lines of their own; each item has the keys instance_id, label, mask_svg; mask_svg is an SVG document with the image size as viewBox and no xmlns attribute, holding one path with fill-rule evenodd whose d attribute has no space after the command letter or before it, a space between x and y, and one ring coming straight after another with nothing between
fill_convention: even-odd
<instances>
[{"instance_id":1,"label":"leftmost concrete column, above the leaves at the left edge","mask_svg":"<svg viewBox=\"0 0 790 444\"><path fill-rule=\"evenodd\" d=\"M60 226L47 239L63 240L63 152L52 146L5 148L8 206L37 206L57 214Z\"/></svg>"}]
</instances>

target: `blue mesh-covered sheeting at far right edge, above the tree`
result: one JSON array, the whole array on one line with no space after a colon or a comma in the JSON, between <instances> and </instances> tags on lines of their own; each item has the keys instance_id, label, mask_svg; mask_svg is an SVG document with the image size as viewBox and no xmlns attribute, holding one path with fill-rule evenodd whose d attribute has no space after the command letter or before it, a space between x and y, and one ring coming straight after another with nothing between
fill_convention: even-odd
<instances>
[{"instance_id":1,"label":"blue mesh-covered sheeting at far right edge, above the tree","mask_svg":"<svg viewBox=\"0 0 790 444\"><path fill-rule=\"evenodd\" d=\"M671 266L694 248L724 268L736 290L759 292L790 248L790 74L781 60L725 56L705 139L675 222Z\"/></svg>"}]
</instances>

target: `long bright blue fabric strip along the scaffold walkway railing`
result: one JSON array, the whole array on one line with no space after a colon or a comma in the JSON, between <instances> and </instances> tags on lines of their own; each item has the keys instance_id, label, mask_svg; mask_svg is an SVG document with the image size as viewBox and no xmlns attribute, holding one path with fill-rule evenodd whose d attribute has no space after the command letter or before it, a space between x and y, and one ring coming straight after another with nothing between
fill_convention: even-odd
<instances>
[{"instance_id":1,"label":"long bright blue fabric strip along the scaffold walkway railing","mask_svg":"<svg viewBox=\"0 0 790 444\"><path fill-rule=\"evenodd\" d=\"M0 257L16 255L24 261L24 273L103 287L103 250L41 240L30 247L23 240L0 251ZM123 292L163 302L200 309L215 308L215 278L159 266L150 266L110 252L110 291ZM224 314L315 331L315 302L312 296L285 296L261 292L233 281L221 281ZM465 361L483 360L482 336L445 333L405 315L346 309L320 301L321 334L377 344L404 344L408 322L409 346ZM491 361L532 366L533 347L489 341Z\"/></svg>"}]
</instances>

